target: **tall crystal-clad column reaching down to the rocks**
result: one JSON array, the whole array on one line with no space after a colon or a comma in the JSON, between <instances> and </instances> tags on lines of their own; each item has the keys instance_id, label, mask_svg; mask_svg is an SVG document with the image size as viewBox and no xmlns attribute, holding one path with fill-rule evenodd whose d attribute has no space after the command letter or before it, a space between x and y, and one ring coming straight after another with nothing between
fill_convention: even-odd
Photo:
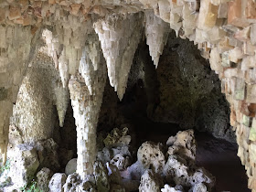
<instances>
[{"instance_id":1,"label":"tall crystal-clad column reaching down to the rocks","mask_svg":"<svg viewBox=\"0 0 256 192\"><path fill-rule=\"evenodd\" d=\"M89 43L86 46L91 45L91 40L93 41L95 38L90 39L89 37ZM98 50L99 53L96 53L100 57L97 64L99 68L94 70L93 60L88 58L86 49L83 50L82 58L80 59L80 73L87 74L89 76L87 78L93 80L90 83L87 81L90 88L80 73L71 76L69 80L70 98L78 135L77 172L83 179L85 176L92 174L92 165L96 160L96 127L106 80L106 67L101 56L101 50Z\"/></svg>"}]
</instances>

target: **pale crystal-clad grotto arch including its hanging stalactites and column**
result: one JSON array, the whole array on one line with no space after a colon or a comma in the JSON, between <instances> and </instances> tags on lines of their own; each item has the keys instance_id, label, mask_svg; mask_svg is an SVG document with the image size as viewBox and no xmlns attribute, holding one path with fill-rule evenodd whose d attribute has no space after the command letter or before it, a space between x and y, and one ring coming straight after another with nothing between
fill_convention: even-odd
<instances>
[{"instance_id":1,"label":"pale crystal-clad grotto arch including its hanging stalactites and column","mask_svg":"<svg viewBox=\"0 0 256 192\"><path fill-rule=\"evenodd\" d=\"M230 123L236 130L238 155L247 170L249 187L255 190L255 7L253 0L1 1L0 149L4 161L13 103L28 63L37 52L38 37L48 27L53 32L48 43L51 57L59 68L63 86L69 84L76 118L78 173L81 178L92 173L96 158L95 128L105 85L104 65L94 65L93 60L94 71L83 66L87 70L84 74L90 74L96 85L88 77L85 82L78 72L82 57L87 57L83 53L88 50L85 46L92 22L101 41L110 83L122 99L135 48L143 35L142 12L151 10L169 23L176 36L194 41L201 55L209 59L211 69L219 74L222 92L230 104ZM162 40L157 45L157 57L165 45L165 38L162 35L159 38ZM157 63L155 53L151 54ZM65 105L59 102L57 105L62 124ZM91 155L85 155L87 151Z\"/></svg>"}]
</instances>

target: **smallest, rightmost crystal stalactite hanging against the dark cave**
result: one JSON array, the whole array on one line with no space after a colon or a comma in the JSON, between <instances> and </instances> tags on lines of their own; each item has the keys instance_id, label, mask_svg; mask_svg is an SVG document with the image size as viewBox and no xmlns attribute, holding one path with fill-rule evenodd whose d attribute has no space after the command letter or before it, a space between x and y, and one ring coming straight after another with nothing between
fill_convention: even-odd
<instances>
[{"instance_id":1,"label":"smallest, rightmost crystal stalactite hanging against the dark cave","mask_svg":"<svg viewBox=\"0 0 256 192\"><path fill-rule=\"evenodd\" d=\"M160 55L162 55L167 42L169 26L152 11L145 11L145 37L149 46L149 53L157 68Z\"/></svg>"}]
</instances>

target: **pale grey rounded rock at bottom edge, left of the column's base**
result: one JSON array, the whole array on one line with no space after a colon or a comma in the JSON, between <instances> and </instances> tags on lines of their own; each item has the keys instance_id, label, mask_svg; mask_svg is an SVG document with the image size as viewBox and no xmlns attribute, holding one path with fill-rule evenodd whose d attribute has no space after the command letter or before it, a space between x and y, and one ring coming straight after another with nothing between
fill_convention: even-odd
<instances>
[{"instance_id":1,"label":"pale grey rounded rock at bottom edge, left of the column's base","mask_svg":"<svg viewBox=\"0 0 256 192\"><path fill-rule=\"evenodd\" d=\"M67 176L65 174L54 174L49 183L49 192L64 192L64 184L66 183Z\"/></svg>"}]
</instances>

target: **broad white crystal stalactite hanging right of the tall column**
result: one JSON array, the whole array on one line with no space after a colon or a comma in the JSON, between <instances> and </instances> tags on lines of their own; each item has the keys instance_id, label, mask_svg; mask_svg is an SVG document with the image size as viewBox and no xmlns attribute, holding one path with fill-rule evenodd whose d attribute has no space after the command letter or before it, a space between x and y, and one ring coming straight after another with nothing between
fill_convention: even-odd
<instances>
[{"instance_id":1,"label":"broad white crystal stalactite hanging right of the tall column","mask_svg":"<svg viewBox=\"0 0 256 192\"><path fill-rule=\"evenodd\" d=\"M142 26L140 13L109 15L94 23L107 62L110 84L120 100L123 99L133 55L142 35Z\"/></svg>"}]
</instances>

